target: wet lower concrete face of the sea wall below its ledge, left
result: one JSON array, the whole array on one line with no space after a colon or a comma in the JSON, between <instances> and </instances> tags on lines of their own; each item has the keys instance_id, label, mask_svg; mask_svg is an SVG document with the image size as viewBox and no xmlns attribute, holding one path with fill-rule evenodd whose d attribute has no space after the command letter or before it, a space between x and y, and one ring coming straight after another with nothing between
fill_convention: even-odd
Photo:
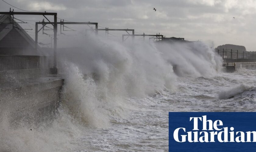
<instances>
[{"instance_id":1,"label":"wet lower concrete face of the sea wall below its ledge, left","mask_svg":"<svg viewBox=\"0 0 256 152\"><path fill-rule=\"evenodd\" d=\"M2 111L8 109L11 123L41 124L55 115L61 98L62 78L25 78L0 85Z\"/></svg>"}]
</instances>

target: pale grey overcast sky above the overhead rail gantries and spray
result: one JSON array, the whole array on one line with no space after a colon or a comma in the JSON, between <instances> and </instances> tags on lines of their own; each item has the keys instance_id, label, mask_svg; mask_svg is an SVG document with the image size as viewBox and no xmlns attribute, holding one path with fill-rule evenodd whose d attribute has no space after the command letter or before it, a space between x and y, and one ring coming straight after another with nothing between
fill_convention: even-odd
<instances>
[{"instance_id":1,"label":"pale grey overcast sky above the overhead rail gantries and spray","mask_svg":"<svg viewBox=\"0 0 256 152\"><path fill-rule=\"evenodd\" d=\"M129 28L138 33L160 33L166 37L213 42L215 47L237 44L249 51L256 50L256 0L5 1L24 10L57 12L59 18L68 21L98 22L102 27ZM13 8L0 0L2 12L9 11L10 7ZM20 18L43 19L41 16Z\"/></svg>"}]
</instances>

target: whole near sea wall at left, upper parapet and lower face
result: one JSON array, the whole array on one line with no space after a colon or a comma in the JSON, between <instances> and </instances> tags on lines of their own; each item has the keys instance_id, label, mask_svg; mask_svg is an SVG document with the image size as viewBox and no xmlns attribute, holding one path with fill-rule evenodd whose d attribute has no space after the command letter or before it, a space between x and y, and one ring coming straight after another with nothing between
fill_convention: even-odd
<instances>
[{"instance_id":1,"label":"whole near sea wall at left, upper parapet and lower face","mask_svg":"<svg viewBox=\"0 0 256 152\"><path fill-rule=\"evenodd\" d=\"M0 55L0 115L15 126L52 119L64 80L51 74L50 65L46 56Z\"/></svg>"}]
</instances>

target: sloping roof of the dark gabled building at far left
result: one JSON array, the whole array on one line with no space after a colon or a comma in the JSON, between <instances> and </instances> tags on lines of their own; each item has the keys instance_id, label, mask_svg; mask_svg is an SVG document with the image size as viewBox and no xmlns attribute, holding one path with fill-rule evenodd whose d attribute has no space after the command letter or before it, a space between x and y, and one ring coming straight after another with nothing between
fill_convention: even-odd
<instances>
[{"instance_id":1,"label":"sloping roof of the dark gabled building at far left","mask_svg":"<svg viewBox=\"0 0 256 152\"><path fill-rule=\"evenodd\" d=\"M35 49L35 41L15 20L10 23L9 15L0 15L0 41L10 33L12 29L16 30L16 32L18 32L24 40L26 40L30 46ZM37 48L41 50L39 45L37 45Z\"/></svg>"}]
</instances>

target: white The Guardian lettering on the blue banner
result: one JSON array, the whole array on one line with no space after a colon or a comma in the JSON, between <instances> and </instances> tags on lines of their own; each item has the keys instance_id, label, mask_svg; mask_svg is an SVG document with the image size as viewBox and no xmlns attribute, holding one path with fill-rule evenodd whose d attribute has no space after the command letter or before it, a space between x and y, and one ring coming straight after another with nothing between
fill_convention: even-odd
<instances>
[{"instance_id":1,"label":"white The Guardian lettering on the blue banner","mask_svg":"<svg viewBox=\"0 0 256 152\"><path fill-rule=\"evenodd\" d=\"M222 120L210 120L207 116L190 117L192 130L185 127L176 128L173 138L176 142L256 142L256 131L236 131L234 127L225 127ZM201 130L199 127L201 126ZM255 128L256 130L256 128ZM252 140L251 140L252 139Z\"/></svg>"}]
</instances>

